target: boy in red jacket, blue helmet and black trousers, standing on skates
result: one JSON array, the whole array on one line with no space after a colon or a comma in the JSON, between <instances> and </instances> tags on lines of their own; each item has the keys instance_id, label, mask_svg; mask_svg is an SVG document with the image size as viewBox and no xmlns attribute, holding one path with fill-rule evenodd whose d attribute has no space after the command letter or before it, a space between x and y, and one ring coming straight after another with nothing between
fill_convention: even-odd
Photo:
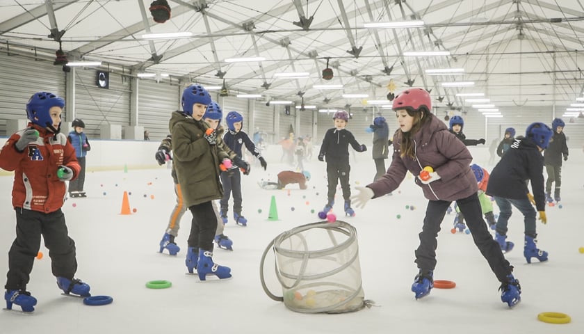
<instances>
[{"instance_id":1,"label":"boy in red jacket, blue helmet and black trousers, standing on skates","mask_svg":"<svg viewBox=\"0 0 584 334\"><path fill-rule=\"evenodd\" d=\"M74 279L77 270L75 242L67 234L61 211L67 186L81 167L75 149L60 134L65 100L52 93L35 93L26 104L29 126L16 132L0 151L0 168L15 171L13 207L16 239L8 253L6 308L19 305L32 312L37 300L26 291L40 237L49 248L53 275L65 294L90 296L89 285Z\"/></svg>"}]
</instances>

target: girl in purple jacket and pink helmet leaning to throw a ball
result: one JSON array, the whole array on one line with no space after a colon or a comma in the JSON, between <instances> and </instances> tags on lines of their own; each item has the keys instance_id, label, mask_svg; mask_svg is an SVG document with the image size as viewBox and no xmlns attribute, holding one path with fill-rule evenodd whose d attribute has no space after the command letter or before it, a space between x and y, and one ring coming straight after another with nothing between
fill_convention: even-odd
<instances>
[{"instance_id":1,"label":"girl in purple jacket and pink helmet leaning to throw a ball","mask_svg":"<svg viewBox=\"0 0 584 334\"><path fill-rule=\"evenodd\" d=\"M412 292L416 299L430 293L434 287L433 272L436 267L437 236L446 209L456 201L467 218L474 243L487 259L495 276L501 282L501 301L509 307L521 301L519 280L512 275L501 247L487 230L482 220L477 196L476 178L469 167L472 161L467 147L446 125L436 118L432 110L430 94L422 88L409 88L394 99L400 129L394 134L394 157L387 173L365 187L357 186L358 194L352 197L357 207L364 207L371 198L378 198L398 188L407 171L419 175L424 167L433 171L428 177L416 177L428 207L420 232L420 246L416 249L416 264L419 273L414 279Z\"/></svg>"}]
</instances>

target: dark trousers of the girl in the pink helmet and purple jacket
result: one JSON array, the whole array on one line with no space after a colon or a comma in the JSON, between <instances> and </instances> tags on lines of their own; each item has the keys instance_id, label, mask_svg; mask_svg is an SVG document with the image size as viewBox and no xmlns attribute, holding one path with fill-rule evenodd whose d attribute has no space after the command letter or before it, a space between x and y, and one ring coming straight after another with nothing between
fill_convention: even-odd
<instances>
[{"instance_id":1,"label":"dark trousers of the girl in the pink helmet and purple jacket","mask_svg":"<svg viewBox=\"0 0 584 334\"><path fill-rule=\"evenodd\" d=\"M499 282L507 282L507 276L512 272L513 267L509 264L501 246L495 241L487 229L487 223L482 219L480 202L476 193L467 198L456 201L460 211L467 219L467 226L471 230L473 241L483 257L489 263L489 267L495 273ZM438 246L437 237L440 232L440 223L444 219L446 209L451 202L446 200L430 200L426 213L422 232L420 232L420 246L416 249L416 264L423 271L434 270L436 267L436 248Z\"/></svg>"}]
</instances>

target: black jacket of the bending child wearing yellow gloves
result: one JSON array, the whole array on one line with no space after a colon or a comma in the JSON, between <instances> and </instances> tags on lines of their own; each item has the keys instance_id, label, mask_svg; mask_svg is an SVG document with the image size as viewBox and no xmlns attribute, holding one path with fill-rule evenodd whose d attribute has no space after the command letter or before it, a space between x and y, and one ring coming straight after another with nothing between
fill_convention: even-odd
<instances>
[{"instance_id":1,"label":"black jacket of the bending child wearing yellow gloves","mask_svg":"<svg viewBox=\"0 0 584 334\"><path fill-rule=\"evenodd\" d=\"M527 199L528 181L537 211L545 211L544 157L533 139L520 136L491 172L486 193L514 200Z\"/></svg>"}]
</instances>

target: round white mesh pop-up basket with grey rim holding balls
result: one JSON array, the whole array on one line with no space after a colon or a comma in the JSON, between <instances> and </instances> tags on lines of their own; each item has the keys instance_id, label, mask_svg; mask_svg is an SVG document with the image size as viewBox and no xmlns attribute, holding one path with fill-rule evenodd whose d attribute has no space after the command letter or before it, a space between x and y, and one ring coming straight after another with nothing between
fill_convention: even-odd
<instances>
[{"instance_id":1,"label":"round white mesh pop-up basket with grey rim holding balls","mask_svg":"<svg viewBox=\"0 0 584 334\"><path fill-rule=\"evenodd\" d=\"M282 297L269 291L263 277L270 249ZM296 312L352 312L371 304L361 285L357 230L344 221L311 223L279 234L263 252L260 277L271 299Z\"/></svg>"}]
</instances>

